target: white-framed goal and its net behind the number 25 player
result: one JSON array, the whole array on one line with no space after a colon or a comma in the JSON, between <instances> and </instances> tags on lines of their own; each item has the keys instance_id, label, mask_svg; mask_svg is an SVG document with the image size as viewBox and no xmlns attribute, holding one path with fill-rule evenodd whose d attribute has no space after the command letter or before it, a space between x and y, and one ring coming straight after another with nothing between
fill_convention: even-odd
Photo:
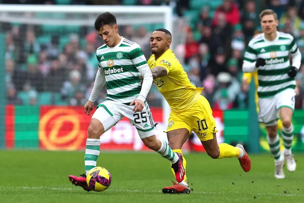
<instances>
[{"instance_id":1,"label":"white-framed goal and its net behind the number 25 player","mask_svg":"<svg viewBox=\"0 0 304 203\"><path fill-rule=\"evenodd\" d=\"M1 5L0 34L5 40L6 107L14 121L5 122L7 145L41 149L78 149L84 146L89 117L83 112L95 80L96 49L103 44L94 29L98 15L109 11L117 18L119 34L138 43L148 58L150 33L166 28L172 33L171 49L183 62L186 23L174 18L168 6L54 6ZM5 91L1 88L0 91ZM105 88L95 105L105 99ZM153 85L147 97L164 136L170 109ZM9 116L8 116L9 117ZM9 117L10 118L10 117ZM7 132L13 129L13 132ZM12 134L12 135L11 135ZM143 149L136 129L119 122L102 136L103 147Z\"/></svg>"}]
</instances>

